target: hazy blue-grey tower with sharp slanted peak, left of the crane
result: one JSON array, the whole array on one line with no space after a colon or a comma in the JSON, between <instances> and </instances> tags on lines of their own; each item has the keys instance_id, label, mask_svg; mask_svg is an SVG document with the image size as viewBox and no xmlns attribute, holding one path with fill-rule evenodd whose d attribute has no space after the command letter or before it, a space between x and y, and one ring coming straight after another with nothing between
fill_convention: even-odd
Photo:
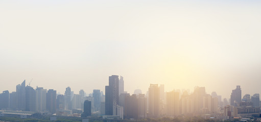
<instances>
[{"instance_id":1,"label":"hazy blue-grey tower with sharp slanted peak, left of the crane","mask_svg":"<svg viewBox=\"0 0 261 122\"><path fill-rule=\"evenodd\" d=\"M18 110L26 110L26 80L16 85L16 94L18 98Z\"/></svg>"}]
</instances>

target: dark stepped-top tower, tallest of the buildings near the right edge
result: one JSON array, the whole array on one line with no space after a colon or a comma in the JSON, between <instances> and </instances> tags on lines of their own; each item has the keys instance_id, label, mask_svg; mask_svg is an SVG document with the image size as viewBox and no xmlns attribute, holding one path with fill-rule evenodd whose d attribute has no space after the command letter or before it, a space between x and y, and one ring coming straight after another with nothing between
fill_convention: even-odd
<instances>
[{"instance_id":1,"label":"dark stepped-top tower, tallest of the buildings near the right edge","mask_svg":"<svg viewBox=\"0 0 261 122\"><path fill-rule=\"evenodd\" d=\"M240 85L236 85L236 89L232 90L232 93L230 95L230 105L240 106L241 98L242 96Z\"/></svg>"}]
</instances>

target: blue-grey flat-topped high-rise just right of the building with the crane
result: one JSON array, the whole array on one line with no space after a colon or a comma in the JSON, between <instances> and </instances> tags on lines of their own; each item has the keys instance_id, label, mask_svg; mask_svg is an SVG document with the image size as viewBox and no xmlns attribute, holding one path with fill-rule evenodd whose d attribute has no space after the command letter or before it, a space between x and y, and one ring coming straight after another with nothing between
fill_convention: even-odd
<instances>
[{"instance_id":1,"label":"blue-grey flat-topped high-rise just right of the building with the crane","mask_svg":"<svg viewBox=\"0 0 261 122\"><path fill-rule=\"evenodd\" d=\"M36 111L46 110L46 89L43 87L36 87Z\"/></svg>"}]
</instances>

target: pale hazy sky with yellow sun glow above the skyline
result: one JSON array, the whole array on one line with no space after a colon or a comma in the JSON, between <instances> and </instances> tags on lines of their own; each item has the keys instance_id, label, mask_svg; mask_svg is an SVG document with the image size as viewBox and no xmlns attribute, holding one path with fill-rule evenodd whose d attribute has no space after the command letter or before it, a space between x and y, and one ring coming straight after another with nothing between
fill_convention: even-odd
<instances>
[{"instance_id":1,"label":"pale hazy sky with yellow sun glow above the skyline","mask_svg":"<svg viewBox=\"0 0 261 122\"><path fill-rule=\"evenodd\" d=\"M204 86L260 92L260 1L0 1L0 92Z\"/></svg>"}]
</instances>

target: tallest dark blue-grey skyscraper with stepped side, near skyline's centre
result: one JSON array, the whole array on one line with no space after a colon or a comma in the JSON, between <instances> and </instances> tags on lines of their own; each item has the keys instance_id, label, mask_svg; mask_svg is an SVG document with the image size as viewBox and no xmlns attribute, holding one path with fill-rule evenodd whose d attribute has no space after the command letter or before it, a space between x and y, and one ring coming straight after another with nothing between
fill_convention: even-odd
<instances>
[{"instance_id":1,"label":"tallest dark blue-grey skyscraper with stepped side, near skyline's centre","mask_svg":"<svg viewBox=\"0 0 261 122\"><path fill-rule=\"evenodd\" d=\"M105 114L113 115L113 106L118 105L118 76L109 76L109 85L105 86Z\"/></svg>"}]
</instances>

